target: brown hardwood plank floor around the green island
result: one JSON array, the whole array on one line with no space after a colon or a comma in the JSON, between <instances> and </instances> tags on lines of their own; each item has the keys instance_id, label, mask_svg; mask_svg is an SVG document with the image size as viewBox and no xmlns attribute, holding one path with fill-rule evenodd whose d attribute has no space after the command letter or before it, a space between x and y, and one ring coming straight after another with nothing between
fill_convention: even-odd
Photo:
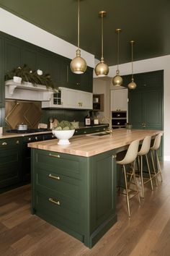
<instances>
[{"instance_id":1,"label":"brown hardwood plank floor around the green island","mask_svg":"<svg viewBox=\"0 0 170 256\"><path fill-rule=\"evenodd\" d=\"M32 256L169 256L170 162L163 168L164 181L145 187L145 200L117 198L118 221L92 248L30 214L30 186L0 195L0 255Z\"/></svg>"}]
</instances>

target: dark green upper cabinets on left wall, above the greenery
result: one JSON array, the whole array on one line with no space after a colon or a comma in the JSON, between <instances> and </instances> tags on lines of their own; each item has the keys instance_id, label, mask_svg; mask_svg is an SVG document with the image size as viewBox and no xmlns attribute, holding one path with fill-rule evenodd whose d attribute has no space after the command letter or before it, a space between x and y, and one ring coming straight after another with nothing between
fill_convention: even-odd
<instances>
[{"instance_id":1,"label":"dark green upper cabinets on left wall, above the greenery","mask_svg":"<svg viewBox=\"0 0 170 256\"><path fill-rule=\"evenodd\" d=\"M71 59L27 43L11 35L0 33L4 39L4 72L27 64L32 70L41 69L50 74L57 87L66 87L92 93L93 69L87 67L84 74L71 72ZM1 47L1 42L0 42ZM2 55L1 55L2 56Z\"/></svg>"}]
</instances>

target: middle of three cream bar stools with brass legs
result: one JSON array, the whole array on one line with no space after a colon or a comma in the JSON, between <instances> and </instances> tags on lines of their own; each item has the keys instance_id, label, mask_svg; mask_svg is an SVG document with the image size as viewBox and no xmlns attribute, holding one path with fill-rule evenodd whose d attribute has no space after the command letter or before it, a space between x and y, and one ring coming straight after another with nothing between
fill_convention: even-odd
<instances>
[{"instance_id":1,"label":"middle of three cream bar stools with brass legs","mask_svg":"<svg viewBox=\"0 0 170 256\"><path fill-rule=\"evenodd\" d=\"M153 183L152 183L152 177L151 177L151 171L148 163L148 152L151 148L151 136L146 136L143 140L142 146L140 148L140 151L138 152L138 166L140 171L140 179L141 179L141 187L142 187L142 197L144 198L144 184L151 182L151 189L153 190ZM146 156L146 163L148 166L148 174L149 179L146 180L146 182L143 182L143 155Z\"/></svg>"}]
</instances>

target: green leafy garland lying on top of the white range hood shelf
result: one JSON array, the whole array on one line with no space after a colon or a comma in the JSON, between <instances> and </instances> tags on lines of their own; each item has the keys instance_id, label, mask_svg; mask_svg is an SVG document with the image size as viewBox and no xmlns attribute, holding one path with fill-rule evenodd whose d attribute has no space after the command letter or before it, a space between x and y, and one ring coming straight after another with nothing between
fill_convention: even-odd
<instances>
[{"instance_id":1,"label":"green leafy garland lying on top of the white range hood shelf","mask_svg":"<svg viewBox=\"0 0 170 256\"><path fill-rule=\"evenodd\" d=\"M23 82L31 82L34 86L37 85L45 85L46 88L52 88L57 90L55 83L50 77L50 74L43 74L42 70L37 69L33 70L24 64L22 67L17 67L12 69L11 71L6 72L5 81L12 80L13 77L21 77Z\"/></svg>"}]
</instances>

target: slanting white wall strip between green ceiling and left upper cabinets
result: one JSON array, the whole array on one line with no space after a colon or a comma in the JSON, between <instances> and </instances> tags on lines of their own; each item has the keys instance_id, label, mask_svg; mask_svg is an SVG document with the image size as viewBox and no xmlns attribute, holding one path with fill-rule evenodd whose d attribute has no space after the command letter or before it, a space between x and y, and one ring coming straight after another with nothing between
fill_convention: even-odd
<instances>
[{"instance_id":1,"label":"slanting white wall strip between green ceiling and left upper cabinets","mask_svg":"<svg viewBox=\"0 0 170 256\"><path fill-rule=\"evenodd\" d=\"M40 27L32 25L30 22L22 20L21 18L11 14L0 8L0 30L9 35L13 35L36 46L53 51L55 54L60 54L69 59L76 56L76 46L71 43L52 35ZM76 27L75 27L76 29ZM81 56L86 59L89 67L94 67L94 55L81 50Z\"/></svg>"}]
</instances>

